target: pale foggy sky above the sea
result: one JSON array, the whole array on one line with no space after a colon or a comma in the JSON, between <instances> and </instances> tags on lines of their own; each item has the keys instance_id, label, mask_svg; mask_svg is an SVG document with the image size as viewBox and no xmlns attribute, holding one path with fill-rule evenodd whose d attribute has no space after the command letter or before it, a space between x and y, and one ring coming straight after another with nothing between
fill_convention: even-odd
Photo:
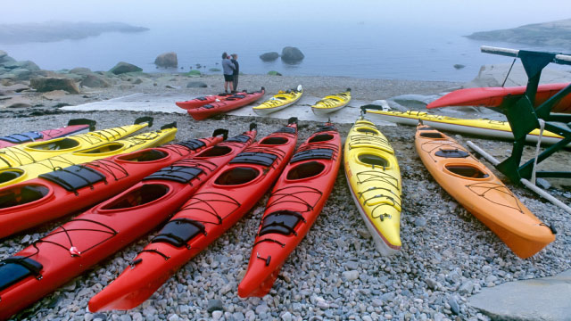
<instances>
[{"instance_id":1,"label":"pale foggy sky above the sea","mask_svg":"<svg viewBox=\"0 0 571 321\"><path fill-rule=\"evenodd\" d=\"M196 23L406 23L481 31L571 18L562 0L2 0L0 23L120 21L153 28ZM285 29L286 31L286 29ZM308 30L310 32L310 30Z\"/></svg>"}]
</instances>

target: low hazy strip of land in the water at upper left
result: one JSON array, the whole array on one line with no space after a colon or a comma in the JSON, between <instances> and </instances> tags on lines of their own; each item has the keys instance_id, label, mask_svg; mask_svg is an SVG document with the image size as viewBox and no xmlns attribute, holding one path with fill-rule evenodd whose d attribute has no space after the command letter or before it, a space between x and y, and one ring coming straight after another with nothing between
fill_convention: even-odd
<instances>
[{"instance_id":1,"label":"low hazy strip of land in the water at upper left","mask_svg":"<svg viewBox=\"0 0 571 321\"><path fill-rule=\"evenodd\" d=\"M148 28L121 22L62 22L0 24L0 44L54 42L95 37L103 32L142 32Z\"/></svg>"}]
</instances>

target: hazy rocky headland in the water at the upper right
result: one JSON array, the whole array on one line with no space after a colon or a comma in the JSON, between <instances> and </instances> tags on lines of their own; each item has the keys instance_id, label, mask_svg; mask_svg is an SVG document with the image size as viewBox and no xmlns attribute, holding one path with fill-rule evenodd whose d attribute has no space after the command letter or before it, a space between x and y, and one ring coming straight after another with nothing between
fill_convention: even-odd
<instances>
[{"instance_id":1,"label":"hazy rocky headland in the water at the upper right","mask_svg":"<svg viewBox=\"0 0 571 321\"><path fill-rule=\"evenodd\" d=\"M571 19L528 24L514 29L480 31L466 37L522 45L547 45L568 51L571 50Z\"/></svg>"}]
</instances>

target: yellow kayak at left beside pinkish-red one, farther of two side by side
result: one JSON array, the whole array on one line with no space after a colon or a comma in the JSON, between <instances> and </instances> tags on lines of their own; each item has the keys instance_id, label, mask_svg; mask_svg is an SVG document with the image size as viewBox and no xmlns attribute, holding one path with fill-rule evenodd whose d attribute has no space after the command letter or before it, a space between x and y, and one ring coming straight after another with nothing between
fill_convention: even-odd
<instances>
[{"instance_id":1,"label":"yellow kayak at left beside pinkish-red one, farther of two side by side","mask_svg":"<svg viewBox=\"0 0 571 321\"><path fill-rule=\"evenodd\" d=\"M0 169L23 166L68 152L77 152L100 144L113 142L152 125L152 117L142 117L135 120L134 125L96 130L43 142L4 147L0 149Z\"/></svg>"}]
</instances>

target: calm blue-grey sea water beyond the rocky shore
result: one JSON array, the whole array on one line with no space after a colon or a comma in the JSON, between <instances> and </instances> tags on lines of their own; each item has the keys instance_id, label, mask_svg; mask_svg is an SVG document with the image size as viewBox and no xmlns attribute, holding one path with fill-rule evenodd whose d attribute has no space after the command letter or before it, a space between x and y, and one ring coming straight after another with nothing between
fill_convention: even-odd
<instances>
[{"instance_id":1,"label":"calm blue-grey sea water beyond the rocky shore","mask_svg":"<svg viewBox=\"0 0 571 321\"><path fill-rule=\"evenodd\" d=\"M0 49L17 60L31 60L42 69L87 67L110 70L117 62L130 62L145 71L156 71L154 58L165 52L178 54L184 71L200 63L219 68L222 52L238 53L244 73L265 74L277 70L284 75L347 76L355 78L401 78L469 81L480 66L509 63L511 59L480 53L480 45L519 48L517 45L470 40L470 30L431 26L345 22L343 24L240 24L219 23L151 27L136 34L106 33L99 37L54 43L2 45ZM296 65L262 62L261 53L286 45L299 47L305 59ZM454 64L466 67L456 70Z\"/></svg>"}]
</instances>

